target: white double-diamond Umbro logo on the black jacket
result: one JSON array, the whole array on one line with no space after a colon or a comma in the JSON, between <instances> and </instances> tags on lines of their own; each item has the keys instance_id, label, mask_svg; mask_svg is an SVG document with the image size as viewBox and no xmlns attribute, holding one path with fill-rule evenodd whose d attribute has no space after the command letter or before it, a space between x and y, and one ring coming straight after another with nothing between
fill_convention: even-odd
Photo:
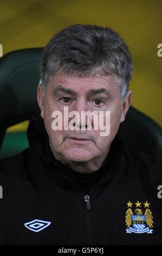
<instances>
[{"instance_id":1,"label":"white double-diamond Umbro logo on the black jacket","mask_svg":"<svg viewBox=\"0 0 162 256\"><path fill-rule=\"evenodd\" d=\"M37 220L37 219L34 221L24 223L26 228L28 228L34 232L39 232L42 229L47 228L50 224L51 224L51 222L49 222L49 221L42 221L42 220Z\"/></svg>"}]
</instances>

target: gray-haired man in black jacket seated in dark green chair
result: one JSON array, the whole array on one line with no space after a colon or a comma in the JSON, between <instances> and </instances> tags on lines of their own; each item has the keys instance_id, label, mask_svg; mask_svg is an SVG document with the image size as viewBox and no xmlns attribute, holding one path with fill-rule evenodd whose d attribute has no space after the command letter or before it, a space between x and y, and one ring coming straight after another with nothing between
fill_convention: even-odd
<instances>
[{"instance_id":1,"label":"gray-haired man in black jacket seated in dark green chair","mask_svg":"<svg viewBox=\"0 0 162 256\"><path fill-rule=\"evenodd\" d=\"M162 244L159 160L117 135L131 77L128 46L111 28L73 25L49 41L42 120L28 127L29 149L0 163L0 244Z\"/></svg>"}]
</instances>

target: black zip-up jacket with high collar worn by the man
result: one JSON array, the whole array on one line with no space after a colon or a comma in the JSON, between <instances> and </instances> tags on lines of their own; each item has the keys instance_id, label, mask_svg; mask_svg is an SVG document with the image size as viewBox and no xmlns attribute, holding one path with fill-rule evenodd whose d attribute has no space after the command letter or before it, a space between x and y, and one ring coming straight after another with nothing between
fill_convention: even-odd
<instances>
[{"instance_id":1,"label":"black zip-up jacket with high collar worn by the man","mask_svg":"<svg viewBox=\"0 0 162 256\"><path fill-rule=\"evenodd\" d=\"M103 166L83 174L54 159L43 121L28 140L0 161L0 245L162 245L160 157L116 136Z\"/></svg>"}]
</instances>

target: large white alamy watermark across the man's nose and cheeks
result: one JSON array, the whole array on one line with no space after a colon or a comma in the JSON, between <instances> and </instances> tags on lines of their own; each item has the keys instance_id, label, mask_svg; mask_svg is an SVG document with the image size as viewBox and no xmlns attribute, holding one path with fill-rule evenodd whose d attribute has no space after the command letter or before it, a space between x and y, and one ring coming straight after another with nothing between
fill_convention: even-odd
<instances>
[{"instance_id":1,"label":"large white alamy watermark across the man's nose and cheeks","mask_svg":"<svg viewBox=\"0 0 162 256\"><path fill-rule=\"evenodd\" d=\"M55 118L51 123L51 128L54 131L98 130L100 131L100 136L108 136L110 133L110 111L81 111L80 116L79 112L68 112L68 107L64 107L63 113L54 111L51 114L51 118Z\"/></svg>"}]
</instances>

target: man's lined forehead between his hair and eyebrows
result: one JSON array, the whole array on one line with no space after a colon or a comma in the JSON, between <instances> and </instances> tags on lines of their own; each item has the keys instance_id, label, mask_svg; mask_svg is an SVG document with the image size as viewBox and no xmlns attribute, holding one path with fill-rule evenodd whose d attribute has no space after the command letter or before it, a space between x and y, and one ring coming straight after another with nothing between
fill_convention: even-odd
<instances>
[{"instance_id":1,"label":"man's lined forehead between his hair and eyebrows","mask_svg":"<svg viewBox=\"0 0 162 256\"><path fill-rule=\"evenodd\" d=\"M113 90L116 87L115 76L95 76L95 77L69 77L66 75L55 75L51 77L50 81L51 89L57 88L69 88L78 92L89 92L93 89Z\"/></svg>"}]
</instances>

